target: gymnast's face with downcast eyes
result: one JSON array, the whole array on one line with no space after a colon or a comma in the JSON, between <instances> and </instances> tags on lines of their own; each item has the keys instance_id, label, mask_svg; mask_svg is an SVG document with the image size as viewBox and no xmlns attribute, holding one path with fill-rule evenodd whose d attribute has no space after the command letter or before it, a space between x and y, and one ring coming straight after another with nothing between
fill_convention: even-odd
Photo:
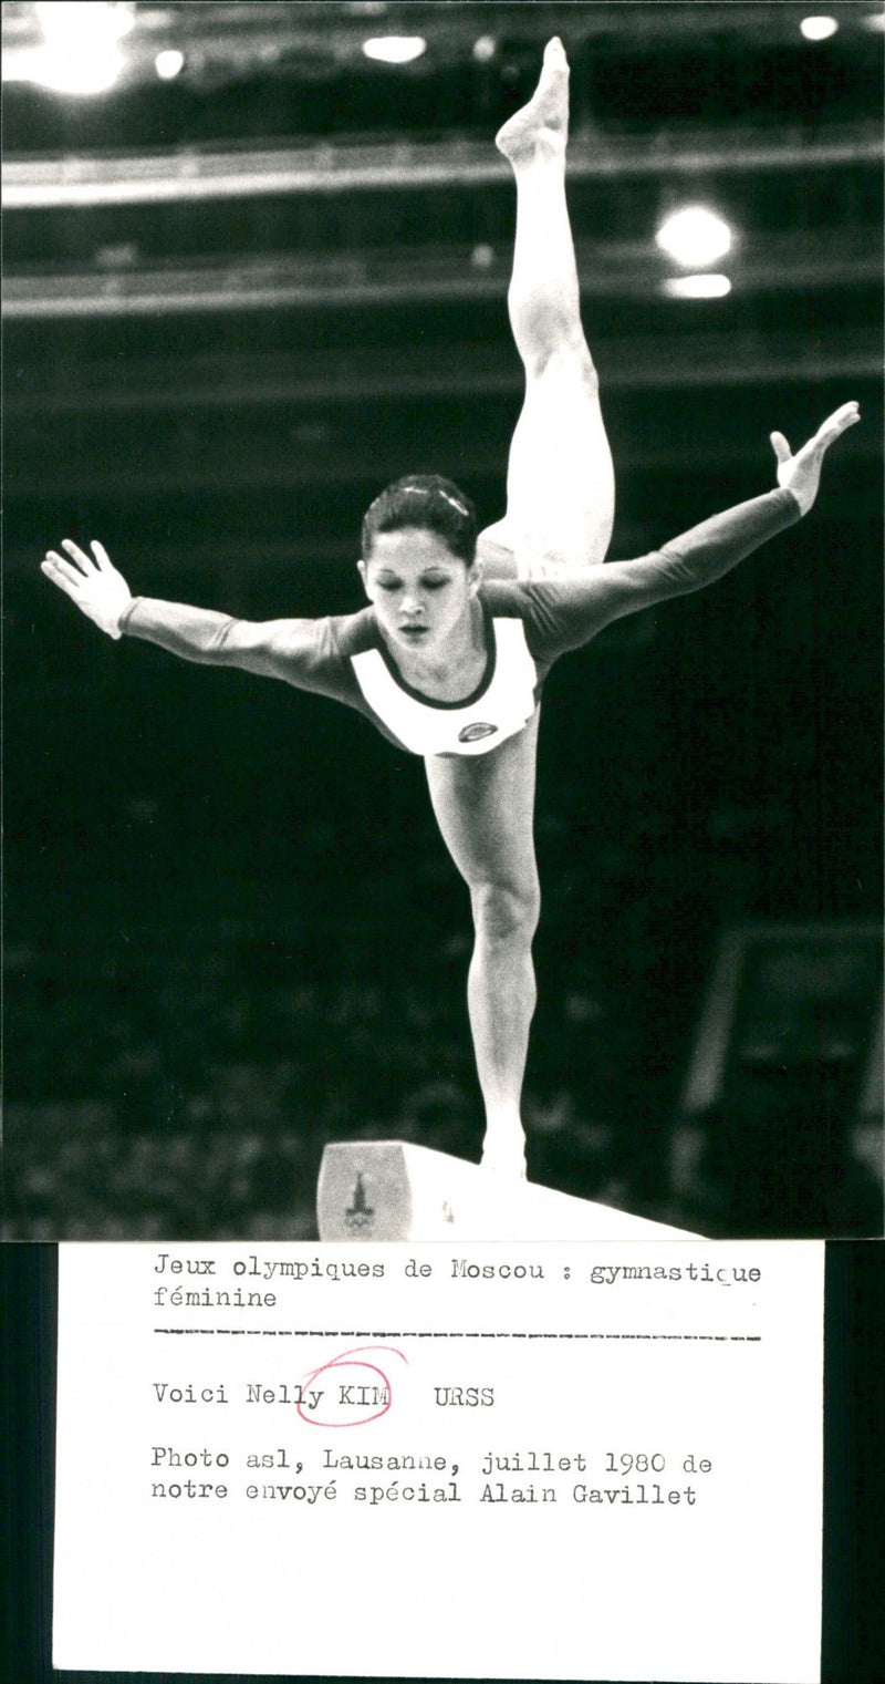
<instances>
[{"instance_id":1,"label":"gymnast's face with downcast eyes","mask_svg":"<svg viewBox=\"0 0 885 1684\"><path fill-rule=\"evenodd\" d=\"M439 657L471 632L481 568L454 556L437 532L377 532L360 574L382 637L394 648Z\"/></svg>"}]
</instances>

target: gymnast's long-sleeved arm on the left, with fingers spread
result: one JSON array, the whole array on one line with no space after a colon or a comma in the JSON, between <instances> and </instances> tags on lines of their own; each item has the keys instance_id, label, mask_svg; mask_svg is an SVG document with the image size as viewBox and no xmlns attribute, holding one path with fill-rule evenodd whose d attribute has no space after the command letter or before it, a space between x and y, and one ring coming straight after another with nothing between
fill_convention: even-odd
<instances>
[{"instance_id":1,"label":"gymnast's long-sleeved arm on the left, with fingers spread","mask_svg":"<svg viewBox=\"0 0 885 1684\"><path fill-rule=\"evenodd\" d=\"M93 539L93 554L87 554L66 537L61 547L66 554L49 551L42 571L108 637L119 638L128 632L183 660L242 667L289 682L299 682L299 669L315 652L311 620L254 623L210 608L148 601L131 594L103 544Z\"/></svg>"}]
</instances>

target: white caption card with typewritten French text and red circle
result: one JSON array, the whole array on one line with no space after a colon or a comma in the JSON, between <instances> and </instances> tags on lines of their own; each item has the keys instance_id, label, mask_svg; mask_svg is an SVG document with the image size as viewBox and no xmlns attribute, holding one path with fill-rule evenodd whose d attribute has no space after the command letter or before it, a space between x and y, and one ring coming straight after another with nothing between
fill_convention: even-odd
<instances>
[{"instance_id":1,"label":"white caption card with typewritten French text and red circle","mask_svg":"<svg viewBox=\"0 0 885 1684\"><path fill-rule=\"evenodd\" d=\"M62 1244L54 1662L816 1684L823 1244Z\"/></svg>"}]
</instances>

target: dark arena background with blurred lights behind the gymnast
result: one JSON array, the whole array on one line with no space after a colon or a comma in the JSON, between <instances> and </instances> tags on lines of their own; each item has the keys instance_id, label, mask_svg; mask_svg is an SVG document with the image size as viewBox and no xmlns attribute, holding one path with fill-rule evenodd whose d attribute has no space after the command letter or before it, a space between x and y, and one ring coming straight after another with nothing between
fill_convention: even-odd
<instances>
[{"instance_id":1,"label":"dark arena background with blurred lights behind the gymnast","mask_svg":"<svg viewBox=\"0 0 885 1684\"><path fill-rule=\"evenodd\" d=\"M111 643L39 562L99 537L141 594L345 613L387 480L500 517L493 135L554 32L611 554L767 490L772 428L863 426L808 520L548 680L528 1172L710 1236L882 1233L882 25L3 5L7 1238L310 1239L326 1140L478 1157L421 761ZM715 259L656 242L692 205Z\"/></svg>"}]
</instances>

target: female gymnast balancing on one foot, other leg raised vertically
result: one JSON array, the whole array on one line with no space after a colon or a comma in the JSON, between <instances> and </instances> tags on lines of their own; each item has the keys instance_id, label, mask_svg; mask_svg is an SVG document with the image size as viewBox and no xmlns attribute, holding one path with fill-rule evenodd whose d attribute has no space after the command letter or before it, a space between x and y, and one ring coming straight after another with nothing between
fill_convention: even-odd
<instances>
[{"instance_id":1,"label":"female gymnast balancing on one foot, other leg raised vertically","mask_svg":"<svg viewBox=\"0 0 885 1684\"><path fill-rule=\"evenodd\" d=\"M636 613L722 578L806 514L828 446L858 419L843 404L796 455L771 441L779 490L705 520L638 561L599 566L614 475L565 204L569 64L554 39L533 98L500 131L517 179L510 322L525 402L510 446L506 514L476 537L451 480L409 475L370 505L355 615L249 623L133 598L101 544L64 539L42 569L113 638L242 667L358 709L422 754L432 808L464 877L474 948L468 1010L486 1110L483 1165L525 1175L520 1096L535 1007L538 877L532 835L543 679L559 655Z\"/></svg>"}]
</instances>

